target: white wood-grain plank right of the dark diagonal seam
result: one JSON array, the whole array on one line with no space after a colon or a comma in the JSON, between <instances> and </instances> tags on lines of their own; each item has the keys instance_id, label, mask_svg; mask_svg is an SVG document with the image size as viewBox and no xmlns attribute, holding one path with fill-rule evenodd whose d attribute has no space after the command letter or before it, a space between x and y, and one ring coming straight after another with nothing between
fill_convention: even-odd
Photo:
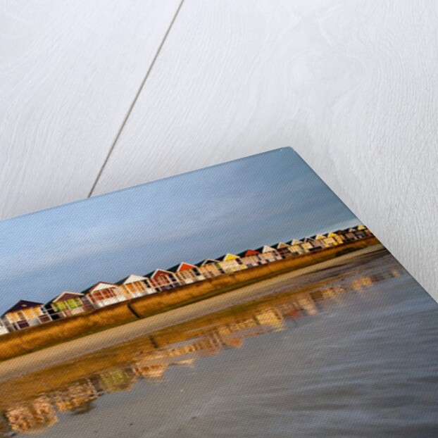
<instances>
[{"instance_id":1,"label":"white wood-grain plank right of the dark diagonal seam","mask_svg":"<svg viewBox=\"0 0 438 438\"><path fill-rule=\"evenodd\" d=\"M293 146L438 299L434 1L186 0L95 193Z\"/></svg>"}]
</instances>

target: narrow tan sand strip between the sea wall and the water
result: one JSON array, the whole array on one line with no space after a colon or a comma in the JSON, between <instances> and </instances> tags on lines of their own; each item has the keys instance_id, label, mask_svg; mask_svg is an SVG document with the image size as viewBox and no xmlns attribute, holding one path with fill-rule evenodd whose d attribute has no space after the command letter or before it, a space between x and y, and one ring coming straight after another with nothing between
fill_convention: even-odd
<instances>
[{"instance_id":1,"label":"narrow tan sand strip between the sea wall and the water","mask_svg":"<svg viewBox=\"0 0 438 438\"><path fill-rule=\"evenodd\" d=\"M355 259L360 260L361 257L372 256L374 253L377 254L382 251L386 251L382 245L370 246L354 251L351 254L339 256L330 261L294 270L291 273L277 275L268 280L262 280L256 284L234 289L232 292L214 296L204 301L198 301L194 304L145 318L144 320L113 327L104 332L90 334L87 337L74 339L63 344L51 346L47 349L29 353L25 356L4 361L0 363L0 381L46 368L61 361L82 356L85 353L104 349L108 346L127 341L128 339L133 339L139 335L161 330L165 327L182 323L185 320L191 320L222 308L234 306L242 301L248 301L249 298L254 297L255 299L263 294L281 292L284 288L290 289L292 285L291 279L293 278L342 266L346 263L351 263Z\"/></svg>"}]
</instances>

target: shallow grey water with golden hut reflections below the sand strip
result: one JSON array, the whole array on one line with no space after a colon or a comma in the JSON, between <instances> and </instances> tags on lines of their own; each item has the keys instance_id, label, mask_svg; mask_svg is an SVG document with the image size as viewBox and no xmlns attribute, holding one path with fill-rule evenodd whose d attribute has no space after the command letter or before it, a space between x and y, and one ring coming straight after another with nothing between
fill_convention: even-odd
<instances>
[{"instance_id":1,"label":"shallow grey water with golden hut reflections below the sand strip","mask_svg":"<svg viewBox=\"0 0 438 438\"><path fill-rule=\"evenodd\" d=\"M0 430L5 437L437 437L437 323L437 304L381 252L3 382Z\"/></svg>"}]
</instances>

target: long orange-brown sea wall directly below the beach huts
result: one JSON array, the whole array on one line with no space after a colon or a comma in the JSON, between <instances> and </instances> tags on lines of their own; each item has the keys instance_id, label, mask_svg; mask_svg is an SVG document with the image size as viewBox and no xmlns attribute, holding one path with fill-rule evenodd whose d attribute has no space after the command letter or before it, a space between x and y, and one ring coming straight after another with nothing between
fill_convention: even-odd
<instances>
[{"instance_id":1,"label":"long orange-brown sea wall directly below the beach huts","mask_svg":"<svg viewBox=\"0 0 438 438\"><path fill-rule=\"evenodd\" d=\"M209 296L229 292L252 282L258 282L291 270L327 261L344 254L346 251L353 251L379 243L375 237L369 237L358 242L342 244L311 254L275 261L238 271L237 273L188 284L177 289L142 296L132 301L123 301L70 318L4 334L0 337L0 361L69 339L82 337L92 332L105 330L115 325L130 323L138 318L146 318L149 315L167 311L171 308L207 299Z\"/></svg>"}]
</instances>

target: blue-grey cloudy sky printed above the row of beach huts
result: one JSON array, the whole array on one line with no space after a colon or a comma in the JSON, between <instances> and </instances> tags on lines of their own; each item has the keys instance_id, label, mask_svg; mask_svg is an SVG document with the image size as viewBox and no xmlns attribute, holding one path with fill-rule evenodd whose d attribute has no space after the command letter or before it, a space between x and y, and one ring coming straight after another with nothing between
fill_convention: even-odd
<instances>
[{"instance_id":1,"label":"blue-grey cloudy sky printed above the row of beach huts","mask_svg":"<svg viewBox=\"0 0 438 438\"><path fill-rule=\"evenodd\" d=\"M0 313L359 220L291 148L0 222Z\"/></svg>"}]
</instances>

